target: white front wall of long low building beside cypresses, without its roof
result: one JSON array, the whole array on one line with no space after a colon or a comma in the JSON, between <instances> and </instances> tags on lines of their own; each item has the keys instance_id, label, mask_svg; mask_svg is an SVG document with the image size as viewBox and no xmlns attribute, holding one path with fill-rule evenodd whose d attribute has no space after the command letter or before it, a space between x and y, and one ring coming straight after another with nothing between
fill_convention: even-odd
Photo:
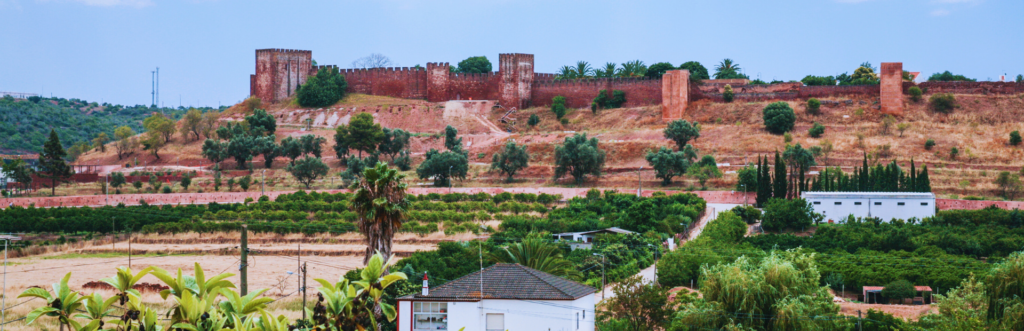
<instances>
[{"instance_id":1,"label":"white front wall of long low building beside cypresses, without its roof","mask_svg":"<svg viewBox=\"0 0 1024 331\"><path fill-rule=\"evenodd\" d=\"M921 219L935 215L935 199L807 198L807 200L814 206L815 212L825 216L824 221L829 219L839 221L851 214L855 217L878 217L885 222L893 218Z\"/></svg>"}]
</instances>

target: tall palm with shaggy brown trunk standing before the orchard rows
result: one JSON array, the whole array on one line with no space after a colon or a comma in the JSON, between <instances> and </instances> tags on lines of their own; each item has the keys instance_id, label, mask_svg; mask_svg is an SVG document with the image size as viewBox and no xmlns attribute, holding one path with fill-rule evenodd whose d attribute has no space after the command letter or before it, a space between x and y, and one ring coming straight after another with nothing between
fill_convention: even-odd
<instances>
[{"instance_id":1,"label":"tall palm with shaggy brown trunk standing before the orchard rows","mask_svg":"<svg viewBox=\"0 0 1024 331\"><path fill-rule=\"evenodd\" d=\"M367 236L364 263L369 263L376 252L385 259L391 257L394 234L401 229L402 213L409 206L403 178L398 170L378 162L377 166L364 170L362 180L352 184L356 190L352 208L359 216L359 232Z\"/></svg>"}]
</instances>

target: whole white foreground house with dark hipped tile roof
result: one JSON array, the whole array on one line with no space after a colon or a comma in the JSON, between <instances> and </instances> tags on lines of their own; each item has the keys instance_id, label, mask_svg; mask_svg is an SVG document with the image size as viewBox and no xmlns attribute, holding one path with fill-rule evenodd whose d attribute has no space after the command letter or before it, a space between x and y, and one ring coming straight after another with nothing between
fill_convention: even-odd
<instances>
[{"instance_id":1,"label":"whole white foreground house with dark hipped tile roof","mask_svg":"<svg viewBox=\"0 0 1024 331\"><path fill-rule=\"evenodd\" d=\"M526 266L498 263L398 298L397 330L594 331L595 292Z\"/></svg>"}]
</instances>

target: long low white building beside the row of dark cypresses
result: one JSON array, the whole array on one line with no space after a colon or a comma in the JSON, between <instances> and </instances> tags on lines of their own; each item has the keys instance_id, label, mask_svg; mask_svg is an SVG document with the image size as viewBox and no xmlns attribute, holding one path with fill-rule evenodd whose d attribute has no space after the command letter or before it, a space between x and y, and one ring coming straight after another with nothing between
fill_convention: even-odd
<instances>
[{"instance_id":1,"label":"long low white building beside the row of dark cypresses","mask_svg":"<svg viewBox=\"0 0 1024 331\"><path fill-rule=\"evenodd\" d=\"M801 194L825 220L854 217L918 219L935 215L935 195L915 192L804 192Z\"/></svg>"}]
</instances>

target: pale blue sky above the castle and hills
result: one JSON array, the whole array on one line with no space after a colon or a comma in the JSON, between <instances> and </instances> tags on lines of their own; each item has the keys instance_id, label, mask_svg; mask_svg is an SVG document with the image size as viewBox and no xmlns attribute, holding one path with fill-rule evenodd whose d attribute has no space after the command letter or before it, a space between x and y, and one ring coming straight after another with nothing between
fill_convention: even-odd
<instances>
[{"instance_id":1,"label":"pale blue sky above the castle and hills","mask_svg":"<svg viewBox=\"0 0 1024 331\"><path fill-rule=\"evenodd\" d=\"M0 91L166 107L249 94L255 50L350 68L535 54L536 71L640 59L800 80L902 61L978 80L1024 74L1021 0L0 0Z\"/></svg>"}]
</instances>

